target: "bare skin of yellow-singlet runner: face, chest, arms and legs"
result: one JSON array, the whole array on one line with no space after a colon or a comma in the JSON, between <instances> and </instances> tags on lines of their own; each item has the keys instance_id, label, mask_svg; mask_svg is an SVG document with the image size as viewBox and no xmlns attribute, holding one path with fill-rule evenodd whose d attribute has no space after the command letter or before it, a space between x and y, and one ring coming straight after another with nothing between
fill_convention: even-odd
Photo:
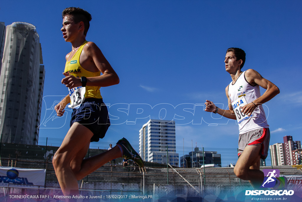
<instances>
[{"instance_id":1,"label":"bare skin of yellow-singlet runner: face, chest, arms and legs","mask_svg":"<svg viewBox=\"0 0 302 202\"><path fill-rule=\"evenodd\" d=\"M75 23L72 16L65 16L63 18L61 31L63 32L65 41L72 44L72 51L66 55L66 60L69 60L69 58L72 58L76 53L77 48L86 40L86 36L84 35L84 23ZM88 77L86 85L105 87L119 83L116 72L98 46L93 42L88 42L84 46L80 55L80 64L85 70L92 72L101 71L102 73L97 77ZM63 77L61 83L67 88L82 86L80 78L65 73L63 73ZM69 95L67 95L55 106L57 116L64 114L64 109L69 103L70 98ZM56 176L65 196L78 195L79 187L77 180L92 173L110 160L122 157L120 149L115 146L111 150L84 159L92 136L93 133L87 127L78 122L73 123L62 145L53 157L53 166Z\"/></svg>"}]
</instances>

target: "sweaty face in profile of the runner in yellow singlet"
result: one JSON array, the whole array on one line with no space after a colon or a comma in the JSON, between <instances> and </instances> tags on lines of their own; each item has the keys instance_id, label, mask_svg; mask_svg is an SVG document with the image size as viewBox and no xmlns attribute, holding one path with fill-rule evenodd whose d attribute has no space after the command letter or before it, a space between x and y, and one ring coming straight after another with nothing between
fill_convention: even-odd
<instances>
[{"instance_id":1,"label":"sweaty face in profile of the runner in yellow singlet","mask_svg":"<svg viewBox=\"0 0 302 202\"><path fill-rule=\"evenodd\" d=\"M61 31L63 32L63 38L65 41L71 42L78 31L78 24L74 22L71 16L65 16L63 18Z\"/></svg>"}]
</instances>

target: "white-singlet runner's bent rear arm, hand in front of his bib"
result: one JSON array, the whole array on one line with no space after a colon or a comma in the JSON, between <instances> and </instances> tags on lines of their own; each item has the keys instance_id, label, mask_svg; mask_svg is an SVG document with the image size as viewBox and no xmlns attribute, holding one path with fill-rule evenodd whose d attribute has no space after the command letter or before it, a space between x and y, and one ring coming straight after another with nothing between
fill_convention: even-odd
<instances>
[{"instance_id":1,"label":"white-singlet runner's bent rear arm, hand in front of his bib","mask_svg":"<svg viewBox=\"0 0 302 202\"><path fill-rule=\"evenodd\" d=\"M253 101L254 104L248 103L242 107L241 111L250 116L258 105L264 104L265 102L271 100L271 98L280 93L280 90L275 84L263 78L257 71L253 69L246 70L245 78L250 84L258 84L262 88L266 89L263 95Z\"/></svg>"}]
</instances>

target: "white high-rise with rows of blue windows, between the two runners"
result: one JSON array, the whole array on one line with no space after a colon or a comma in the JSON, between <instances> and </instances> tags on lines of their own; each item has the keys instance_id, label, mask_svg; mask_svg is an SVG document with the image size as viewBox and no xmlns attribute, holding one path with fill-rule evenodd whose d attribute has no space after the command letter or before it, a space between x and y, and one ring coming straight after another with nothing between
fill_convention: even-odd
<instances>
[{"instance_id":1,"label":"white high-rise with rows of blue windows, between the two runners","mask_svg":"<svg viewBox=\"0 0 302 202\"><path fill-rule=\"evenodd\" d=\"M175 121L150 119L140 129L140 156L144 161L178 166ZM168 150L168 151L167 151Z\"/></svg>"}]
</instances>

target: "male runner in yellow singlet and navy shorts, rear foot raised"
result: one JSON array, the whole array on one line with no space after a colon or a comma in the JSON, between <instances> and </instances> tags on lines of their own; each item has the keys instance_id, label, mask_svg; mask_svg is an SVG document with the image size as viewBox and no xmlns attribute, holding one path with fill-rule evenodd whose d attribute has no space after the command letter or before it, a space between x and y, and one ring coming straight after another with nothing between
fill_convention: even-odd
<instances>
[{"instance_id":1,"label":"male runner in yellow singlet and navy shorts, rear foot raised","mask_svg":"<svg viewBox=\"0 0 302 202\"><path fill-rule=\"evenodd\" d=\"M126 157L140 167L144 165L125 138L111 150L84 159L90 142L103 138L110 126L100 87L118 84L119 78L98 46L85 39L91 15L81 8L70 7L62 12L62 17L63 38L72 45L72 51L66 55L65 78L61 81L69 89L69 95L55 106L55 110L62 116L70 103L73 112L70 129L53 157L53 167L63 194L67 196L78 195L77 180L112 159Z\"/></svg>"}]
</instances>

